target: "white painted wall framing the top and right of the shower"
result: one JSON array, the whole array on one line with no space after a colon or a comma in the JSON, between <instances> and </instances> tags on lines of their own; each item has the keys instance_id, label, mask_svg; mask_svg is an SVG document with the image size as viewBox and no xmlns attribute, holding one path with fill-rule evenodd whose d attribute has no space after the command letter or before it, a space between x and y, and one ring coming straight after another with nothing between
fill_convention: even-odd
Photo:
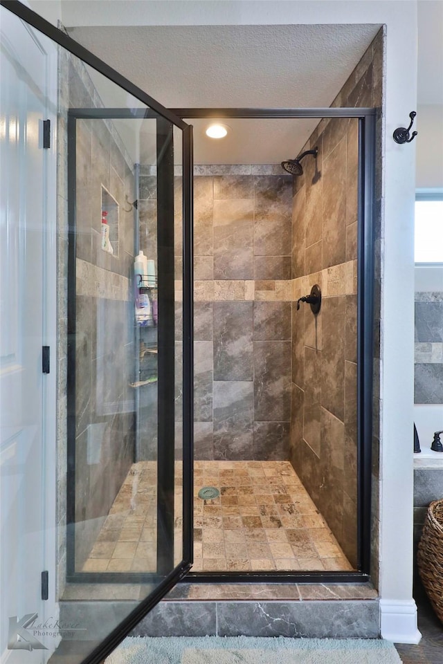
<instances>
[{"instance_id":1,"label":"white painted wall framing the top and right of the shower","mask_svg":"<svg viewBox=\"0 0 443 664\"><path fill-rule=\"evenodd\" d=\"M415 145L397 145L417 106L417 1L64 0L66 25L352 24L387 26L381 300L381 633L415 642L413 580L413 215ZM161 101L161 100L160 100Z\"/></svg>"}]
</instances>

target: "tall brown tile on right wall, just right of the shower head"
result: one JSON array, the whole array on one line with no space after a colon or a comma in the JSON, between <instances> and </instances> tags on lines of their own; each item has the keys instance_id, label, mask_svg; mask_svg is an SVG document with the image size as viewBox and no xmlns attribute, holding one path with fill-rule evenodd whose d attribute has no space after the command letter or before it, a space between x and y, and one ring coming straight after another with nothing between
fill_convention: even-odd
<instances>
[{"instance_id":1,"label":"tall brown tile on right wall, just right of the shower head","mask_svg":"<svg viewBox=\"0 0 443 664\"><path fill-rule=\"evenodd\" d=\"M323 268L346 256L346 140L323 160Z\"/></svg>"}]
</instances>

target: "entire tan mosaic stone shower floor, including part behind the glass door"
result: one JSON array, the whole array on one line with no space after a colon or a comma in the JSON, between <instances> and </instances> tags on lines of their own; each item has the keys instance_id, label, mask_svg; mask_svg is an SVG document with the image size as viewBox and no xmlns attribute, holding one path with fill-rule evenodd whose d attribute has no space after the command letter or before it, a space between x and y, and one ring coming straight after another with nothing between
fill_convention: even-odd
<instances>
[{"instance_id":1,"label":"entire tan mosaic stone shower floor, including part behind the glass door","mask_svg":"<svg viewBox=\"0 0 443 664\"><path fill-rule=\"evenodd\" d=\"M181 463L176 463L177 549ZM289 461L196 461L193 571L351 570ZM156 463L134 463L83 571L154 571ZM214 486L219 497L202 500Z\"/></svg>"}]
</instances>

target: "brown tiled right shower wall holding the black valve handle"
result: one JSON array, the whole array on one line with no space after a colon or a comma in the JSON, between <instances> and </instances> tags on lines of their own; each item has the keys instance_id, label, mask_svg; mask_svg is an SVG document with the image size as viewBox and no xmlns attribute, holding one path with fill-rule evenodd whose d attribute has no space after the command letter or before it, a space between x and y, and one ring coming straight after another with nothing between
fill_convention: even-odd
<instances>
[{"instance_id":1,"label":"brown tiled right shower wall holding the black valve handle","mask_svg":"<svg viewBox=\"0 0 443 664\"><path fill-rule=\"evenodd\" d=\"M380 82L381 33L332 106L378 106ZM302 149L314 147L318 157L305 158L294 180L292 276L302 284L296 298L318 284L323 301L316 317L293 305L290 458L355 565L357 120L321 120Z\"/></svg>"}]
</instances>

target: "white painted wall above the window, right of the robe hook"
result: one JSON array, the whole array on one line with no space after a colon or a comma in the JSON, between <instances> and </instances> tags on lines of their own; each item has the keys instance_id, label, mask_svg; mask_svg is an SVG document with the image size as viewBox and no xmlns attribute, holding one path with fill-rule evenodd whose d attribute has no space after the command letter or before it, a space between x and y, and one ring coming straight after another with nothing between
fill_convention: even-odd
<instances>
[{"instance_id":1,"label":"white painted wall above the window, right of the robe hook","mask_svg":"<svg viewBox=\"0 0 443 664\"><path fill-rule=\"evenodd\" d=\"M416 119L417 189L443 189L443 105L419 105Z\"/></svg>"}]
</instances>

